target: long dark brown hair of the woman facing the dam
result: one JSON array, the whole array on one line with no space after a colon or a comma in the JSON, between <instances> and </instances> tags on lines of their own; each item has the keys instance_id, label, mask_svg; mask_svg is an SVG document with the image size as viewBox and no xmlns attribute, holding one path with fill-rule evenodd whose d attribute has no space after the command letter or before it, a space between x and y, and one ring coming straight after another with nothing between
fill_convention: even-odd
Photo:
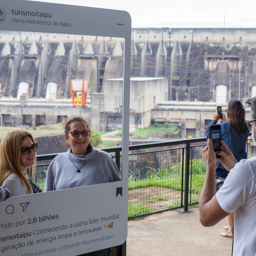
<instances>
[{"instance_id":1,"label":"long dark brown hair of the woman facing the dam","mask_svg":"<svg viewBox=\"0 0 256 256\"><path fill-rule=\"evenodd\" d=\"M240 101L228 101L227 114L231 128L234 128L238 133L246 132L247 127L245 125L245 109Z\"/></svg>"}]
</instances>

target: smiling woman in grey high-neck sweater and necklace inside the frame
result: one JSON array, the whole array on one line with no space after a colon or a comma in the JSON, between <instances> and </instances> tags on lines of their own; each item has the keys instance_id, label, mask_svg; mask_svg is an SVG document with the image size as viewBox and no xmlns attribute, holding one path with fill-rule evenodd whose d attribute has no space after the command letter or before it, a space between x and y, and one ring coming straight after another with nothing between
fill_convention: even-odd
<instances>
[{"instance_id":1,"label":"smiling woman in grey high-neck sweater and necklace inside the frame","mask_svg":"<svg viewBox=\"0 0 256 256\"><path fill-rule=\"evenodd\" d=\"M90 144L88 123L81 117L63 118L64 138L70 148L56 156L48 167L45 191L55 191L120 181L111 156ZM107 256L109 248L81 256Z\"/></svg>"}]
</instances>

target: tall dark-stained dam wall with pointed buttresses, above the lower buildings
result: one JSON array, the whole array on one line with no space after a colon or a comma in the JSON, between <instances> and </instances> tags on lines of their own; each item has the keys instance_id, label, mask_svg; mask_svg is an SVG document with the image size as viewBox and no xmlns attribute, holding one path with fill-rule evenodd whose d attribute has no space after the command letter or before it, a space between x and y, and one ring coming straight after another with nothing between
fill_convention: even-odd
<instances>
[{"instance_id":1,"label":"tall dark-stained dam wall with pointed buttresses, above the lower buildings","mask_svg":"<svg viewBox=\"0 0 256 256\"><path fill-rule=\"evenodd\" d=\"M89 93L99 93L123 76L123 39L0 33L3 97L70 98L70 79L88 79ZM169 100L248 98L256 94L256 29L134 28L131 76L167 78Z\"/></svg>"}]
</instances>

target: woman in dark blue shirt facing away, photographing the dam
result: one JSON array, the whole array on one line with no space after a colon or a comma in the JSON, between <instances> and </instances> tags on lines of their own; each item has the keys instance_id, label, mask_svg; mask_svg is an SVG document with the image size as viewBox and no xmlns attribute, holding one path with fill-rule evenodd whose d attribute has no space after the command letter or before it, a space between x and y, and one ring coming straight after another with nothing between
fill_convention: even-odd
<instances>
[{"instance_id":1,"label":"woman in dark blue shirt facing away, photographing the dam","mask_svg":"<svg viewBox=\"0 0 256 256\"><path fill-rule=\"evenodd\" d=\"M249 136L249 129L245 123L245 109L243 104L238 100L230 100L226 109L227 116L224 113L222 117L218 117L218 113L214 113L210 125L215 125L219 120L221 128L221 140L232 151L237 162L241 159L247 159L246 142ZM206 131L206 139L209 138L209 127ZM217 161L216 176L226 178L229 174L224 166ZM224 227L225 231L220 235L233 237L234 213L228 215L228 225Z\"/></svg>"}]
</instances>

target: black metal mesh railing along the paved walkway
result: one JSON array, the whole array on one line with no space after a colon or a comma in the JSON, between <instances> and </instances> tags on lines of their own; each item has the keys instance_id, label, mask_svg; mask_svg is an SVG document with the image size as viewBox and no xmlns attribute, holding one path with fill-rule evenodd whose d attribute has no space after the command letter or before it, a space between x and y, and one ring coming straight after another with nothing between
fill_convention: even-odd
<instances>
[{"instance_id":1,"label":"black metal mesh railing along the paved walkway","mask_svg":"<svg viewBox=\"0 0 256 256\"><path fill-rule=\"evenodd\" d=\"M205 176L205 137L129 146L128 218L183 208L198 203ZM254 147L247 143L248 156ZM122 147L102 149L122 174ZM50 161L56 154L37 156L37 183L44 188Z\"/></svg>"}]
</instances>

